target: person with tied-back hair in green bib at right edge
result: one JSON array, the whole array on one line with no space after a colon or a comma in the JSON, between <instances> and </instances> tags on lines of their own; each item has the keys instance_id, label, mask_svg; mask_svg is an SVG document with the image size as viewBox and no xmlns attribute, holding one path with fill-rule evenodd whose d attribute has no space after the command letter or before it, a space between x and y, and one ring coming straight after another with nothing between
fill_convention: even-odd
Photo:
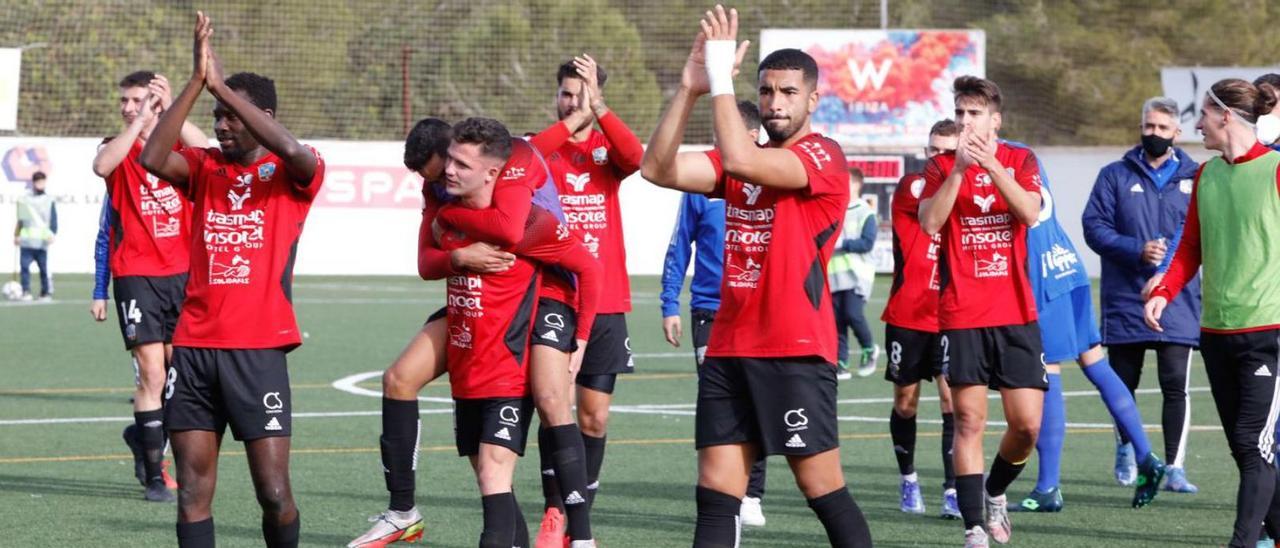
<instances>
[{"instance_id":1,"label":"person with tied-back hair in green bib at right edge","mask_svg":"<svg viewBox=\"0 0 1280 548\"><path fill-rule=\"evenodd\" d=\"M1240 472L1231 547L1253 547L1263 521L1280 538L1280 152L1256 132L1275 105L1268 83L1231 78L1210 88L1196 129L1222 155L1196 175L1181 241L1144 309L1147 325L1162 330L1165 306L1203 268L1201 355Z\"/></svg>"}]
</instances>

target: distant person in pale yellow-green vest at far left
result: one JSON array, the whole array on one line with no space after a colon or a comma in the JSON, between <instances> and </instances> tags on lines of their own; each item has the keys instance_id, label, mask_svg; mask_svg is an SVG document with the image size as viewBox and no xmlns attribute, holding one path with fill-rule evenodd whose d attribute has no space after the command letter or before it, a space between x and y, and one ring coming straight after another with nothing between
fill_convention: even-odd
<instances>
[{"instance_id":1,"label":"distant person in pale yellow-green vest at far left","mask_svg":"<svg viewBox=\"0 0 1280 548\"><path fill-rule=\"evenodd\" d=\"M45 174L31 175L31 193L18 198L18 224L13 243L20 251L22 300L31 301L31 262L40 268L40 300L54 298L52 277L49 274L49 246L58 233L58 209L52 196L45 193Z\"/></svg>"}]
</instances>

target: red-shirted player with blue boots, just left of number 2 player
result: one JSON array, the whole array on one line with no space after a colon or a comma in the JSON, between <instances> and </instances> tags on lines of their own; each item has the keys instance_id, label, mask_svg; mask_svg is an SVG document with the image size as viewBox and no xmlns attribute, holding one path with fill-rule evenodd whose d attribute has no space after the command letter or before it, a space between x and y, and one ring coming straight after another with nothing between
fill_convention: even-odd
<instances>
[{"instance_id":1,"label":"red-shirted player with blue boots, just left of number 2 player","mask_svg":"<svg viewBox=\"0 0 1280 548\"><path fill-rule=\"evenodd\" d=\"M942 120L929 129L925 157L955 152L955 122ZM888 369L884 380L893 383L893 411L888 431L893 439L897 471L902 475L900 510L924 513L924 498L915 474L915 416L920 405L920 382L937 383L942 407L942 517L960 517L956 503L955 469L951 442L955 438L955 416L951 412L951 389L942 375L938 348L938 251L942 238L920 229L919 202L924 192L924 174L909 173L893 191L893 286L881 320L884 321L884 346Z\"/></svg>"}]
</instances>

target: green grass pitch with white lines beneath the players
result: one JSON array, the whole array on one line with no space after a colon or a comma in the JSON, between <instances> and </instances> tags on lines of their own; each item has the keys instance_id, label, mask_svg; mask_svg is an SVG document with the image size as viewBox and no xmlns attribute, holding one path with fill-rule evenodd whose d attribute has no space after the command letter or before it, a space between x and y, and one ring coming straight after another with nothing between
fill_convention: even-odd
<instances>
[{"instance_id":1,"label":"green grass pitch with white lines beneath the players","mask_svg":"<svg viewBox=\"0 0 1280 548\"><path fill-rule=\"evenodd\" d=\"M120 429L132 421L132 369L114 314L93 323L87 277L61 277L51 305L0 303L0 545L173 545L174 506L142 501ZM868 306L876 320L888 280ZM443 303L443 286L410 278L298 278L297 314L308 333L289 355L294 435L292 478L305 545L344 545L387 506L378 456L379 399L333 388L338 379L383 370L428 314ZM671 348L659 324L658 282L636 277L628 316L636 374L618 383L602 490L594 513L603 547L689 545L694 529L692 406L689 343ZM687 303L687 301L686 301ZM1051 326L1047 326L1051 328ZM687 316L686 316L687 330ZM763 334L762 334L763 335ZM687 338L687 335L686 335ZM1156 388L1153 356L1143 389ZM1144 510L1129 508L1132 490L1111 479L1112 434L1092 385L1075 365L1064 367L1070 426L1062 458L1066 508L1057 515L1014 515L1016 545L1211 545L1225 542L1234 519L1236 474L1219 428L1197 355L1187 469L1194 496L1161 493ZM877 545L957 545L959 522L937 519L942 467L937 423L920 424L916 467L928 513L897 510L897 469L888 439L891 389L874 376L840 384L841 460ZM357 384L378 391L376 374ZM932 394L932 385L924 394ZM424 391L448 397L444 383ZM936 394L933 394L936 396ZM992 399L992 420L1000 420ZM1161 452L1160 396L1139 405ZM650 406L650 407L645 407ZM663 406L663 407L658 407ZM480 499L471 470L453 449L447 403L424 402L417 503L426 545L471 547L480 531ZM922 402L922 420L937 420L937 402ZM1001 426L987 437L988 461ZM242 448L228 435L219 470L215 520L220 545L261 545L259 510ZM530 529L540 519L536 449L517 469L516 492ZM1033 457L1010 488L1030 490ZM764 497L768 525L742 534L746 547L826 544L781 458L769 461Z\"/></svg>"}]
</instances>

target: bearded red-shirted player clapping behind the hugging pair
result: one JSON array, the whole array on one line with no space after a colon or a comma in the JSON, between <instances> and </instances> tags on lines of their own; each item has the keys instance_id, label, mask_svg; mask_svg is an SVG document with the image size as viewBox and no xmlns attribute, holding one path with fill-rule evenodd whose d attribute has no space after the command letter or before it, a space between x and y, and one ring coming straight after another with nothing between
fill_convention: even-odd
<instances>
[{"instance_id":1,"label":"bearded red-shirted player clapping behind the hugging pair","mask_svg":"<svg viewBox=\"0 0 1280 548\"><path fill-rule=\"evenodd\" d=\"M604 266L604 294L591 341L586 343L577 383L577 424L586 448L586 475L590 496L599 488L604 463L604 443L609 421L609 402L618 374L631 373L631 338L626 312L631 311L631 282L622 239L622 209L618 188L622 179L640 169L644 149L635 133L604 104L600 90L604 69L590 55L573 58L556 74L559 88L556 109L559 122L534 136L532 145L547 157L561 206L573 236ZM590 105L594 117L575 117L581 105ZM600 129L593 128L591 120ZM554 536L554 507L547 508L544 529ZM543 539L544 535L539 534Z\"/></svg>"}]
</instances>

